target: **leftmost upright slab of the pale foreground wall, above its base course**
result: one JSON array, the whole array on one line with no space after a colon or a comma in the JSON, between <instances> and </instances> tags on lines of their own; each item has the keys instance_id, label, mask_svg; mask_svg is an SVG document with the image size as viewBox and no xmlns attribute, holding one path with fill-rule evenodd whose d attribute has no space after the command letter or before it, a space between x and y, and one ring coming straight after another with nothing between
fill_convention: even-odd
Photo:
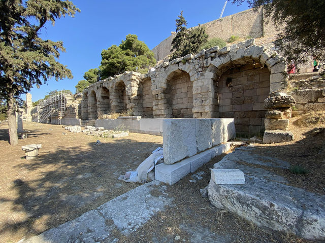
<instances>
[{"instance_id":1,"label":"leftmost upright slab of the pale foreground wall, above its base course","mask_svg":"<svg viewBox=\"0 0 325 243\"><path fill-rule=\"evenodd\" d=\"M163 137L165 164L174 164L197 153L194 119L165 119Z\"/></svg>"}]
</instances>

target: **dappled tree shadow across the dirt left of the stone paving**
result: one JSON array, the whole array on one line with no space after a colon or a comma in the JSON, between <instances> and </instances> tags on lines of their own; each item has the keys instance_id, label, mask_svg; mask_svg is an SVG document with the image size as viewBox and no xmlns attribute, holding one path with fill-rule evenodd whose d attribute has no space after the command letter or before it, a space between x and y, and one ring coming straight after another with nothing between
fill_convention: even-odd
<instances>
[{"instance_id":1,"label":"dappled tree shadow across the dirt left of the stone paving","mask_svg":"<svg viewBox=\"0 0 325 243\"><path fill-rule=\"evenodd\" d=\"M5 139L3 135L0 134L1 139ZM78 146L57 149L32 160L23 159L14 166L15 170L26 171L28 179L12 180L11 191L16 199L0 198L0 205L11 205L12 216L8 215L0 235L16 241L22 235L29 238L139 186L117 178L135 170L152 150L161 146L131 139L89 145L91 149L87 151Z\"/></svg>"}]
</instances>

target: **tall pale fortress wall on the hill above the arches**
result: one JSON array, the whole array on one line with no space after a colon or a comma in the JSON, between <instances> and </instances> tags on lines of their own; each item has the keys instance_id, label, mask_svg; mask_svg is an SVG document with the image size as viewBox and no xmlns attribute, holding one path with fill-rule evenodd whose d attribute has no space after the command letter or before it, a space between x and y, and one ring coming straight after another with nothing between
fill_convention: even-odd
<instances>
[{"instance_id":1,"label":"tall pale fortress wall on the hill above the arches","mask_svg":"<svg viewBox=\"0 0 325 243\"><path fill-rule=\"evenodd\" d=\"M206 27L209 38L218 37L224 41L227 41L232 35L243 38L258 38L277 34L276 27L271 21L266 21L262 9L257 11L249 9L213 20L202 24L202 26ZM171 43L174 36L175 34L172 34L152 49L156 60L162 60L171 54Z\"/></svg>"}]
</instances>

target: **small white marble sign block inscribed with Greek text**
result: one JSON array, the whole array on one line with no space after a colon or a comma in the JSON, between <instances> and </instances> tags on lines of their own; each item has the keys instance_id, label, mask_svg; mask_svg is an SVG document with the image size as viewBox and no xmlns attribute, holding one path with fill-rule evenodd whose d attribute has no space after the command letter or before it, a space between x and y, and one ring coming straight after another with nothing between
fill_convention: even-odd
<instances>
[{"instance_id":1,"label":"small white marble sign block inscribed with Greek text","mask_svg":"<svg viewBox=\"0 0 325 243\"><path fill-rule=\"evenodd\" d=\"M238 169L211 169L211 179L216 184L245 184L244 173Z\"/></svg>"}]
</instances>

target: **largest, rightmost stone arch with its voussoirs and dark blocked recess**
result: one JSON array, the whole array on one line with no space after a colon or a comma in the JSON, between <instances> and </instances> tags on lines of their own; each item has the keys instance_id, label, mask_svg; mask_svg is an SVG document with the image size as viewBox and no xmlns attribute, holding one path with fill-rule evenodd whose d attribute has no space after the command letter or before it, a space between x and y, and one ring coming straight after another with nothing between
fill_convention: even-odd
<instances>
[{"instance_id":1,"label":"largest, rightmost stone arch with its voussoirs and dark blocked recess","mask_svg":"<svg viewBox=\"0 0 325 243\"><path fill-rule=\"evenodd\" d=\"M229 49L211 62L210 73L206 73L216 93L218 105L213 111L221 118L235 118L239 135L260 134L264 129L264 100L270 91L281 90L286 65L276 52L265 47L234 45Z\"/></svg>"}]
</instances>

